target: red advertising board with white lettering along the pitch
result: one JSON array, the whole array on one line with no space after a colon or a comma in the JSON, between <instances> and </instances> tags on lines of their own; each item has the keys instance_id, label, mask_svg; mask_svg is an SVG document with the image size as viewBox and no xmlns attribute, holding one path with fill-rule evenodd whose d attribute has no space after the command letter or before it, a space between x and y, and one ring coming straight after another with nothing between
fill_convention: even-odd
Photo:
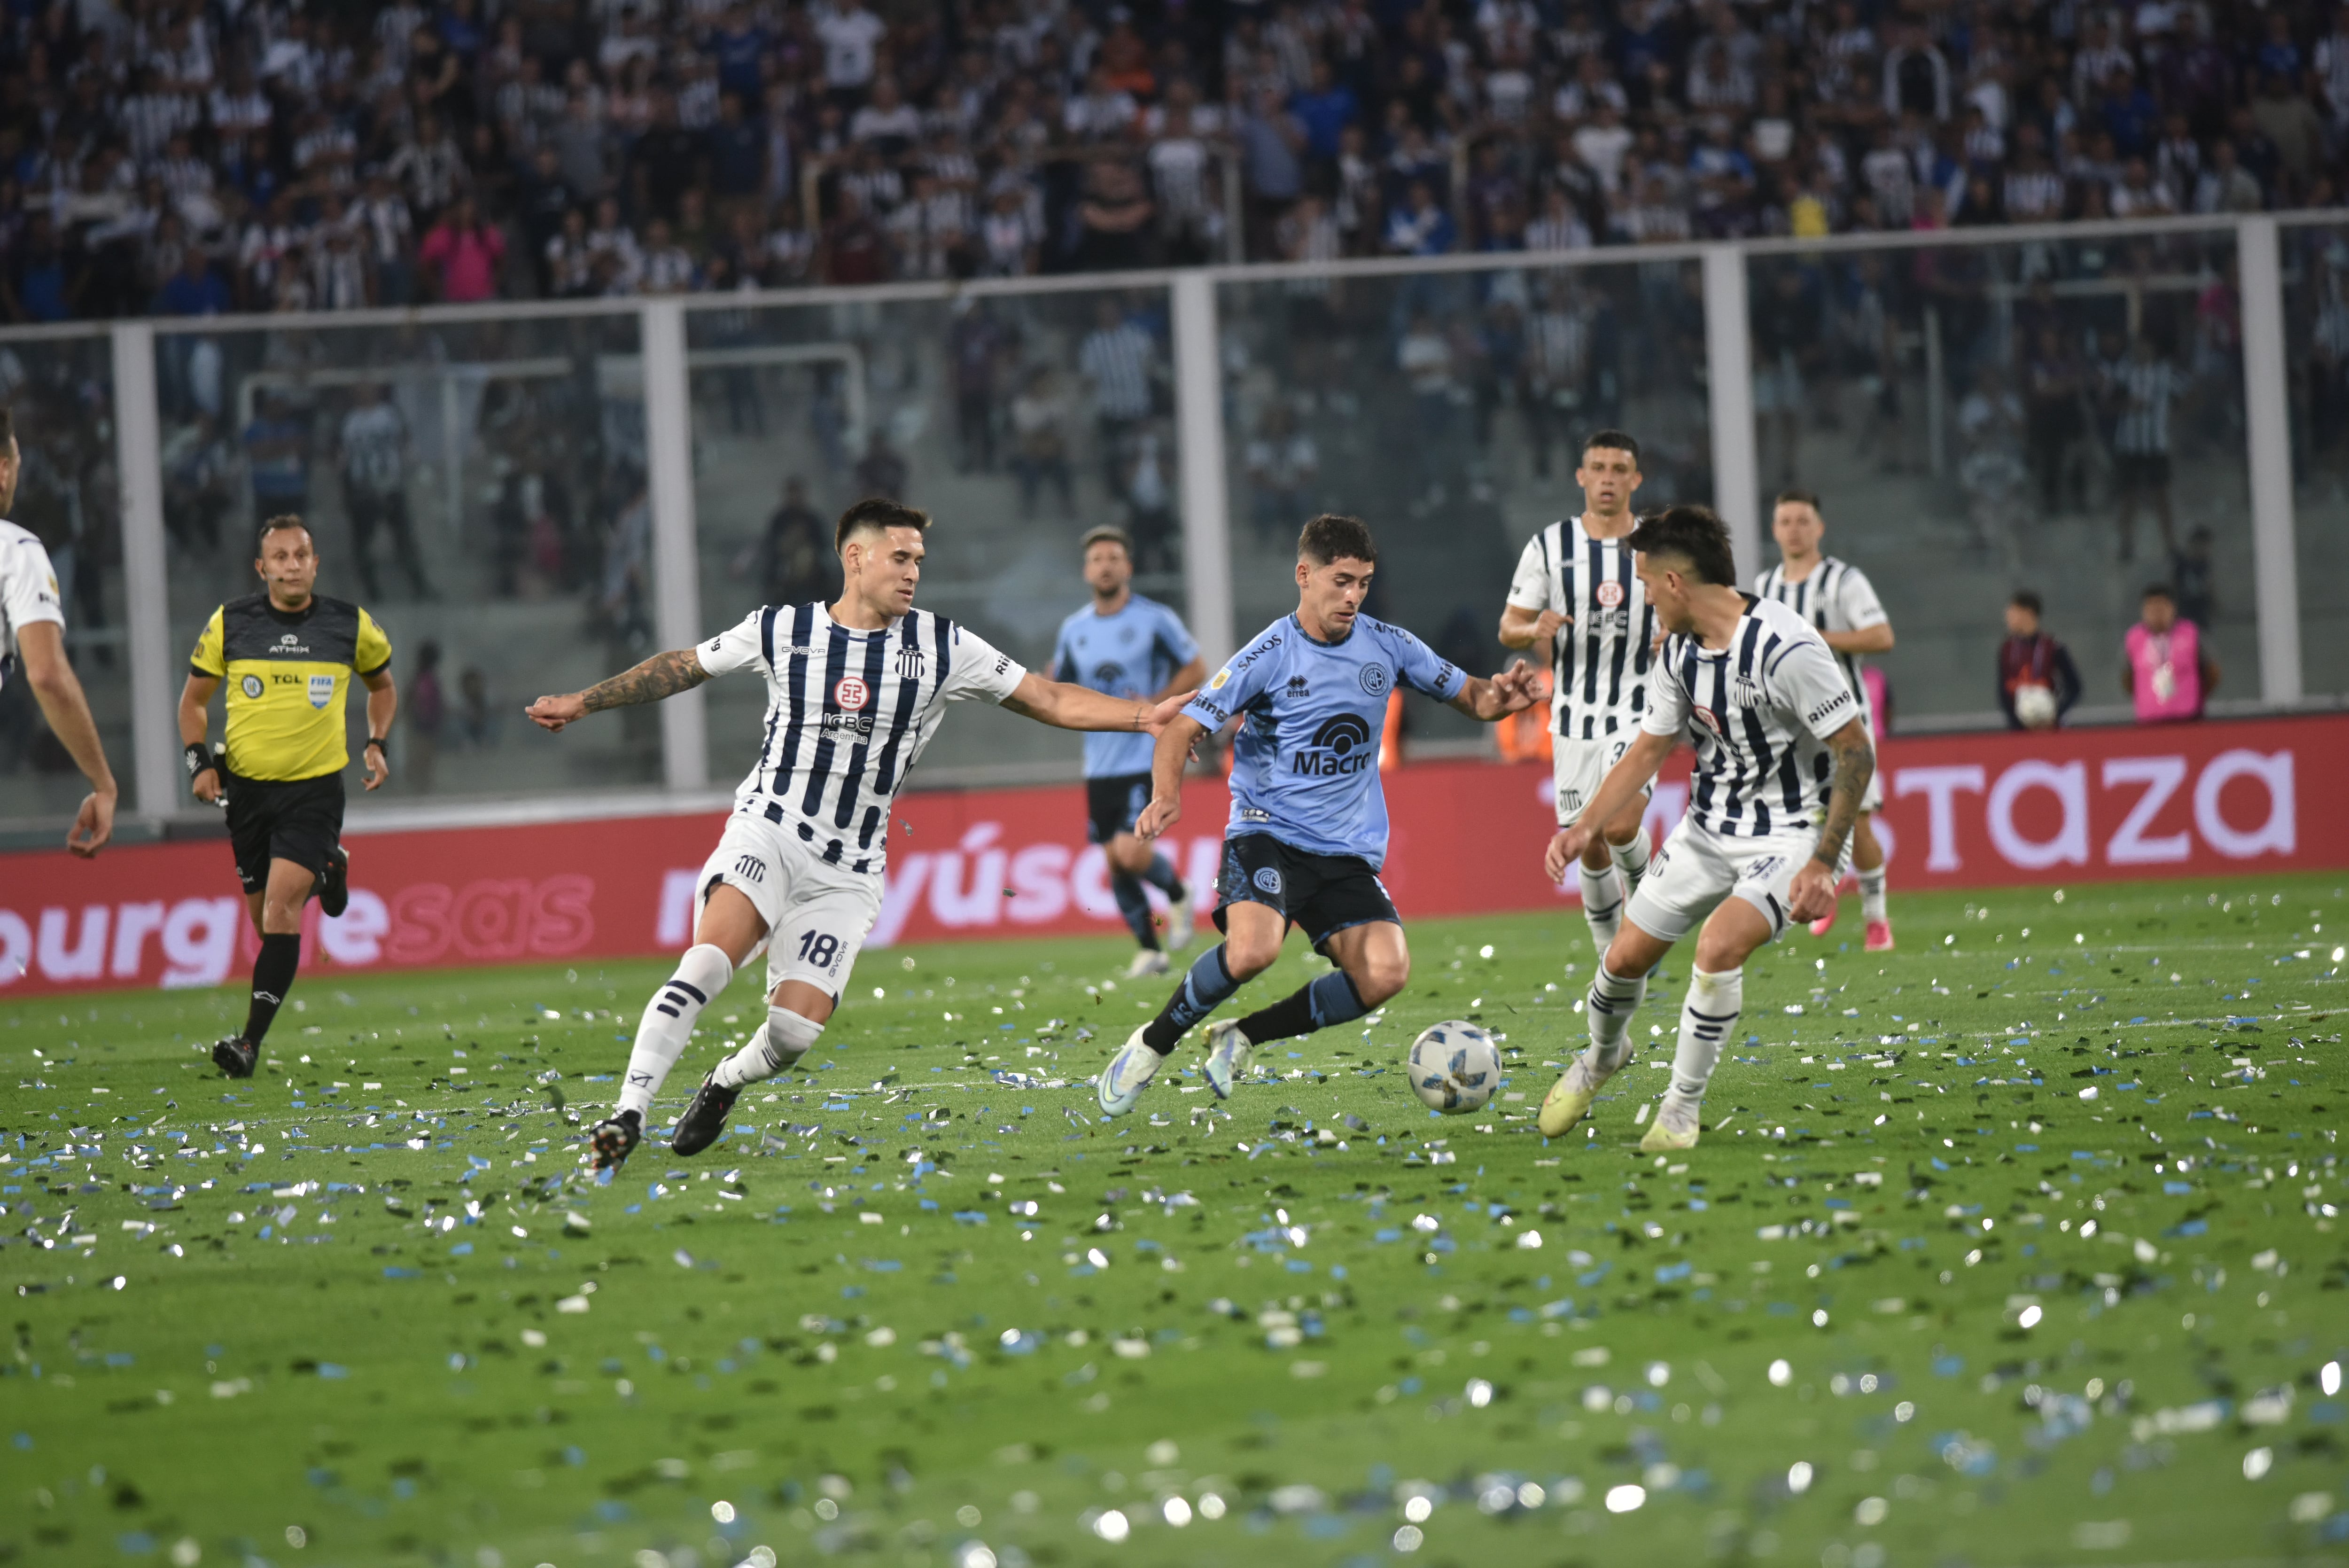
<instances>
[{"instance_id":1,"label":"red advertising board with white lettering along the pitch","mask_svg":"<svg viewBox=\"0 0 2349 1568\"><path fill-rule=\"evenodd\" d=\"M1896 889L2349 867L2349 717L1891 738L1882 748ZM1386 776L1386 884L1405 917L1571 903L1541 875L1539 764L1431 762ZM2311 804L2300 811L2300 802ZM2335 806L2323 806L2323 802ZM1687 752L1649 806L1687 804ZM1226 797L1184 792L1167 849L1212 889ZM305 964L430 969L684 947L709 813L524 827L352 832L352 900L310 905ZM907 795L871 945L1109 933L1102 851L1078 788ZM0 997L218 985L254 952L223 842L117 846L99 860L0 856Z\"/></svg>"}]
</instances>

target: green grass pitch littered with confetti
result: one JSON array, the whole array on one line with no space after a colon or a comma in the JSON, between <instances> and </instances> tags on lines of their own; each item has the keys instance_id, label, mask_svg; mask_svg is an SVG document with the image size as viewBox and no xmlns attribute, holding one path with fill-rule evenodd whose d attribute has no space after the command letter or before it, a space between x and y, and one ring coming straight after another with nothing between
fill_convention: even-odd
<instances>
[{"instance_id":1,"label":"green grass pitch littered with confetti","mask_svg":"<svg viewBox=\"0 0 2349 1568\"><path fill-rule=\"evenodd\" d=\"M1670 1159L1684 952L1532 1126L1574 912L1421 922L1367 1027L1106 1126L1120 943L867 954L611 1185L660 964L315 971L244 1086L235 987L0 1004L0 1563L2340 1561L2340 882L1846 905ZM1440 1018L1485 1114L1405 1084Z\"/></svg>"}]
</instances>

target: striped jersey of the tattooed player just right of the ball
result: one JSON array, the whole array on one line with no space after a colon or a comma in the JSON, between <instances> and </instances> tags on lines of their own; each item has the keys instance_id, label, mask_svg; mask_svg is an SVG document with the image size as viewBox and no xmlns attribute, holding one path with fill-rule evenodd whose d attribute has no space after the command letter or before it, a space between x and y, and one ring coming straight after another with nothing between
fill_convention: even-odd
<instances>
[{"instance_id":1,"label":"striped jersey of the tattooed player just right of the ball","mask_svg":"<svg viewBox=\"0 0 2349 1568\"><path fill-rule=\"evenodd\" d=\"M1738 597L1745 614L1727 649L1665 637L1640 726L1696 748L1698 827L1741 839L1818 827L1835 778L1825 741L1860 717L1858 701L1809 621L1776 599Z\"/></svg>"}]
</instances>

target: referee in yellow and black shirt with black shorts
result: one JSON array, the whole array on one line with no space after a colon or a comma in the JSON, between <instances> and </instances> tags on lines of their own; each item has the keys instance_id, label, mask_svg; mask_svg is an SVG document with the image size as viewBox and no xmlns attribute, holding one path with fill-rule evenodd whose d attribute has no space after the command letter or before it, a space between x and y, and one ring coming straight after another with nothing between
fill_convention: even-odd
<instances>
[{"instance_id":1,"label":"referee in yellow and black shirt with black shorts","mask_svg":"<svg viewBox=\"0 0 2349 1568\"><path fill-rule=\"evenodd\" d=\"M392 689L392 642L357 604L324 599L317 548L301 517L261 524L254 559L265 592L211 611L179 693L179 738L188 748L195 797L228 797L228 842L237 882L261 933L254 959L254 1006L244 1032L211 1048L233 1079L261 1063L261 1039L284 1006L301 966L301 910L317 893L327 914L350 903L350 856L343 853L343 705L352 677L366 686L366 788L392 776L383 759L399 693ZM228 762L204 743L204 705L228 679Z\"/></svg>"}]
</instances>

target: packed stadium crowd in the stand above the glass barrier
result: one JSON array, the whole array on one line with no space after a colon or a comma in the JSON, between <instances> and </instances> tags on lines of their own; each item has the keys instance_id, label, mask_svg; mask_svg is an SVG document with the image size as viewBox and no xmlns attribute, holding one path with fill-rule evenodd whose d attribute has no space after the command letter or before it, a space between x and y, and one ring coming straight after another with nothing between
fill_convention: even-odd
<instances>
[{"instance_id":1,"label":"packed stadium crowd in the stand above the glass barrier","mask_svg":"<svg viewBox=\"0 0 2349 1568\"><path fill-rule=\"evenodd\" d=\"M14 0L0 308L2326 207L2349 9Z\"/></svg>"}]
</instances>

